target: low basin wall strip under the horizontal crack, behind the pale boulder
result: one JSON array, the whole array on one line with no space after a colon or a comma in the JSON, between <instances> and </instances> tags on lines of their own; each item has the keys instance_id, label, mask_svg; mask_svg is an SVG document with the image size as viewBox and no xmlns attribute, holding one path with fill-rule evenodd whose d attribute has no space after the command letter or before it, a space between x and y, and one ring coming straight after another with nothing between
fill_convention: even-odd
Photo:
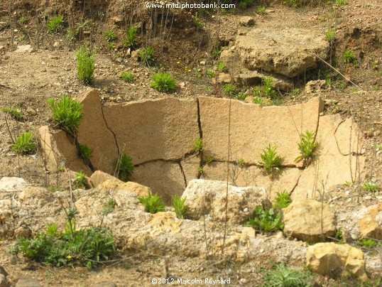
<instances>
[{"instance_id":1,"label":"low basin wall strip under the horizontal crack, behind the pale boulder","mask_svg":"<svg viewBox=\"0 0 382 287\"><path fill-rule=\"evenodd\" d=\"M202 178L206 180L227 180L227 163L212 163L203 168ZM302 171L298 168L284 168L280 175L271 178L263 173L263 168L249 166L241 168L229 164L229 182L236 186L261 186L273 200L277 193L291 193L298 183Z\"/></svg>"}]
</instances>

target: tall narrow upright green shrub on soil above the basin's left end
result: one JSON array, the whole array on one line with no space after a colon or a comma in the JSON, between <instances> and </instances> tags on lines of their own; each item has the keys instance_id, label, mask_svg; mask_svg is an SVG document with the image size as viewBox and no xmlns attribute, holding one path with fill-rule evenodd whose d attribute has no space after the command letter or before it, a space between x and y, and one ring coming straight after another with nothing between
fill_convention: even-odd
<instances>
[{"instance_id":1,"label":"tall narrow upright green shrub on soil above the basin's left end","mask_svg":"<svg viewBox=\"0 0 382 287\"><path fill-rule=\"evenodd\" d=\"M77 76L85 85L90 85L94 81L94 62L94 54L83 45L77 51Z\"/></svg>"}]
</instances>

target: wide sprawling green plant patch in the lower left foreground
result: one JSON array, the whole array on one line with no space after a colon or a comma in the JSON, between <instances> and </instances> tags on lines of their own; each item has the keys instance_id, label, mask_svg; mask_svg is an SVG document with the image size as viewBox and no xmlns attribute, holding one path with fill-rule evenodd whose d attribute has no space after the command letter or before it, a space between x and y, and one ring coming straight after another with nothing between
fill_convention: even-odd
<instances>
[{"instance_id":1,"label":"wide sprawling green plant patch in the lower left foreground","mask_svg":"<svg viewBox=\"0 0 382 287\"><path fill-rule=\"evenodd\" d=\"M70 228L69 228L70 225ZM56 224L48 225L33 239L18 239L12 254L23 254L28 259L60 267L82 265L92 269L100 261L116 254L114 237L104 228L89 227L75 230L75 222L68 222L65 232L58 232Z\"/></svg>"}]
</instances>

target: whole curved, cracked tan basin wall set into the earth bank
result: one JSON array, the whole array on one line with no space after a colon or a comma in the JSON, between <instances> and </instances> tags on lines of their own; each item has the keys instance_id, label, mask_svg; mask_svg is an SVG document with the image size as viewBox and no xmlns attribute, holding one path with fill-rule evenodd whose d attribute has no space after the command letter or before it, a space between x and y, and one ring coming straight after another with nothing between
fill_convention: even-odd
<instances>
[{"instance_id":1,"label":"whole curved, cracked tan basin wall set into the earth bank","mask_svg":"<svg viewBox=\"0 0 382 287\"><path fill-rule=\"evenodd\" d=\"M42 146L45 154L61 155L67 168L91 175L96 169L113 174L119 154L126 153L135 169L130 180L148 186L168 202L172 195L181 195L190 180L227 180L227 175L234 185L266 188L271 199L283 190L293 199L317 197L320 188L329 191L355 180L364 167L356 124L339 115L320 116L324 107L320 97L284 107L212 97L146 99L103 107L97 90L87 90L80 101L84 115L78 144L92 149L92 164L78 158L73 140L64 131L53 132L51 139L46 127L40 136L49 143ZM300 134L307 130L316 132L319 148L317 158L304 168L295 158L300 156ZM196 153L195 141L200 138L202 153ZM276 177L264 174L259 165L268 144L277 146L282 158ZM60 156L53 159L56 163L51 166L57 166ZM240 160L246 165L240 167Z\"/></svg>"}]
</instances>

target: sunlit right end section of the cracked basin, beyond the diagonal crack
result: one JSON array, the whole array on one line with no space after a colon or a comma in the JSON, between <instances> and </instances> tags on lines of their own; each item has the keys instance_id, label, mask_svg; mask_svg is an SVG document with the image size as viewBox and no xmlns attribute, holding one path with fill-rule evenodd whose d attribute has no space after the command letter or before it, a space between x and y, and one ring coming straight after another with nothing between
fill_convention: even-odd
<instances>
[{"instance_id":1,"label":"sunlit right end section of the cracked basin, beyond the diagonal crack","mask_svg":"<svg viewBox=\"0 0 382 287\"><path fill-rule=\"evenodd\" d=\"M303 171L292 194L293 199L320 197L320 193L338 185L359 180L365 158L353 154L361 150L358 134L356 124L351 124L350 120L343 122L339 115L320 117L317 158ZM349 154L350 147L353 153Z\"/></svg>"}]
</instances>

